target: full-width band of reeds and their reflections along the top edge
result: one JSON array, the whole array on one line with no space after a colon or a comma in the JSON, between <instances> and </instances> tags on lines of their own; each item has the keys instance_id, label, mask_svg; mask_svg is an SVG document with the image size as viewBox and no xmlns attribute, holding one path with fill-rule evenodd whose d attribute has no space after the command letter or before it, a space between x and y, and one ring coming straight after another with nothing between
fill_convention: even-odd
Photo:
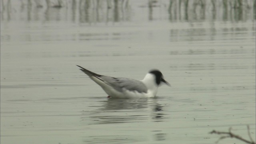
<instances>
[{"instance_id":1,"label":"full-width band of reeds and their reflections along the top edge","mask_svg":"<svg viewBox=\"0 0 256 144\"><path fill-rule=\"evenodd\" d=\"M43 10L39 11L40 8ZM60 9L61 12L56 14L58 11L50 8ZM148 9L148 14L138 13L143 12L143 8ZM13 12L14 10L18 12ZM39 12L39 18L33 17L34 10ZM95 24L131 21L134 17L146 17L149 21L163 18L170 21L245 21L255 20L255 11L255 0L27 0L19 3L1 0L0 13L1 20L11 20L12 17L24 20L24 16L27 21L45 20L45 14L46 20L66 20L70 16L72 22ZM165 14L168 16L162 17ZM59 18L53 18L52 15Z\"/></svg>"}]
</instances>

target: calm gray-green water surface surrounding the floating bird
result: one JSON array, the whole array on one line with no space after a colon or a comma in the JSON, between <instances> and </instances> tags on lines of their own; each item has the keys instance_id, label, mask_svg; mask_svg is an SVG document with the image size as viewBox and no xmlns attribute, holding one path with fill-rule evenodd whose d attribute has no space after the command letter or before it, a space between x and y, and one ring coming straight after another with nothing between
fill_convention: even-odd
<instances>
[{"instance_id":1,"label":"calm gray-green water surface surrounding the floating bird","mask_svg":"<svg viewBox=\"0 0 256 144\"><path fill-rule=\"evenodd\" d=\"M246 125L255 140L251 9L241 19L230 11L223 19L219 10L209 18L208 4L206 18L175 19L165 1L149 8L129 1L124 13L110 8L108 19L104 8L98 17L93 7L81 13L80 2L4 5L1 144L213 144L220 136L209 132L230 127L249 139ZM162 85L156 98L108 99L76 65L134 79L158 68L172 86ZM226 143L242 142L219 142Z\"/></svg>"}]
</instances>

